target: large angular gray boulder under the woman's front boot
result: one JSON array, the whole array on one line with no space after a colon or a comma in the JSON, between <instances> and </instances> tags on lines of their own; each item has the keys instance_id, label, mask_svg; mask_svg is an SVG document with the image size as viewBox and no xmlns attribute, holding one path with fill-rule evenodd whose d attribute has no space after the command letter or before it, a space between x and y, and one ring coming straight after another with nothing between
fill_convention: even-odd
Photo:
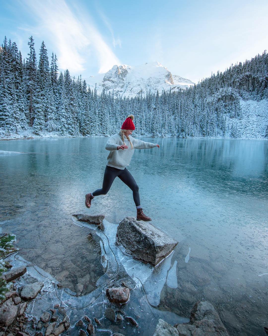
<instances>
[{"instance_id":1,"label":"large angular gray boulder under the woman's front boot","mask_svg":"<svg viewBox=\"0 0 268 336\"><path fill-rule=\"evenodd\" d=\"M178 242L167 236L149 222L125 217L117 228L117 244L122 244L127 253L151 265L157 265L169 255Z\"/></svg>"}]
</instances>

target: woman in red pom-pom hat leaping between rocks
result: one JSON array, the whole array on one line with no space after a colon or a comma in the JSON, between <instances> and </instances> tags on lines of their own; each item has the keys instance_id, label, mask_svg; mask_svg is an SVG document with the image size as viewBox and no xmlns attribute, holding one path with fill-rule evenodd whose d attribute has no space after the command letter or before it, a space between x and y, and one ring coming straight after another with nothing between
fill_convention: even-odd
<instances>
[{"instance_id":1,"label":"woman in red pom-pom hat leaping between rocks","mask_svg":"<svg viewBox=\"0 0 268 336\"><path fill-rule=\"evenodd\" d=\"M134 154L135 148L146 149L158 147L159 145L152 142L145 142L135 139L131 136L135 129L134 116L129 115L124 121L121 131L109 138L106 143L105 149L110 151L107 157L107 166L105 168L103 187L101 189L95 190L93 193L86 194L85 205L90 208L91 201L94 201L94 197L98 195L106 195L111 188L111 185L116 177L119 177L133 193L133 199L137 208L137 220L149 221L152 220L150 217L143 213L142 207L140 205L139 187L127 170L126 166L129 166L132 155ZM125 140L128 140L130 146L127 146Z\"/></svg>"}]
</instances>

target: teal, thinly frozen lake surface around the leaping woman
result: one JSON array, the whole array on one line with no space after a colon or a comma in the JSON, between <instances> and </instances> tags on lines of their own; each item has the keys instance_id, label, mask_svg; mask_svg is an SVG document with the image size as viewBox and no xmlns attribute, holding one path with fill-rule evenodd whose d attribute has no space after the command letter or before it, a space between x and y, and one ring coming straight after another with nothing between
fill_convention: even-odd
<instances>
[{"instance_id":1,"label":"teal, thinly frozen lake surface around the leaping woman","mask_svg":"<svg viewBox=\"0 0 268 336\"><path fill-rule=\"evenodd\" d=\"M2 230L17 235L20 255L81 295L96 288L105 267L95 262L102 255L98 239L71 215L103 213L114 224L136 215L132 192L119 178L90 209L84 205L85 194L102 186L107 139L0 141L2 151L27 153L0 154ZM230 334L263 335L268 141L141 139L160 148L135 150L127 169L151 223L179 241L151 305L189 318L193 304L206 299Z\"/></svg>"}]
</instances>

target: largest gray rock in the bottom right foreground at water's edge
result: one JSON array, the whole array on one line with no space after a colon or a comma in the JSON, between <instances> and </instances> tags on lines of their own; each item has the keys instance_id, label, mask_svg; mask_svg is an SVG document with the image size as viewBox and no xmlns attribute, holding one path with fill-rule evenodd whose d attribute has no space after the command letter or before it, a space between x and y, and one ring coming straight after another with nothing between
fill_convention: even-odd
<instances>
[{"instance_id":1,"label":"largest gray rock in the bottom right foreground at water's edge","mask_svg":"<svg viewBox=\"0 0 268 336\"><path fill-rule=\"evenodd\" d=\"M180 335L184 336L229 336L218 313L208 301L198 301L191 311L191 324L176 324Z\"/></svg>"}]
</instances>

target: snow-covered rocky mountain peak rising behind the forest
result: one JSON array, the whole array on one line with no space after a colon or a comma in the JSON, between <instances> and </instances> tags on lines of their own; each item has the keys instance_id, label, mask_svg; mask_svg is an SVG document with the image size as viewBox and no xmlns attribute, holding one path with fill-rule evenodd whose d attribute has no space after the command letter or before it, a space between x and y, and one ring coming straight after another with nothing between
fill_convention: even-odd
<instances>
[{"instance_id":1,"label":"snow-covered rocky mountain peak rising behind the forest","mask_svg":"<svg viewBox=\"0 0 268 336\"><path fill-rule=\"evenodd\" d=\"M189 79L182 78L177 75L172 75L167 68L163 67L159 62L144 63L139 66L129 66L126 64L117 66L114 65L111 70L105 74L98 74L84 78L90 88L95 88L97 83L97 92L100 93L103 88L106 92L113 91L117 96L135 97L137 94L146 94L146 91L159 95L162 90L177 91L180 88L185 89L194 85Z\"/></svg>"}]
</instances>

